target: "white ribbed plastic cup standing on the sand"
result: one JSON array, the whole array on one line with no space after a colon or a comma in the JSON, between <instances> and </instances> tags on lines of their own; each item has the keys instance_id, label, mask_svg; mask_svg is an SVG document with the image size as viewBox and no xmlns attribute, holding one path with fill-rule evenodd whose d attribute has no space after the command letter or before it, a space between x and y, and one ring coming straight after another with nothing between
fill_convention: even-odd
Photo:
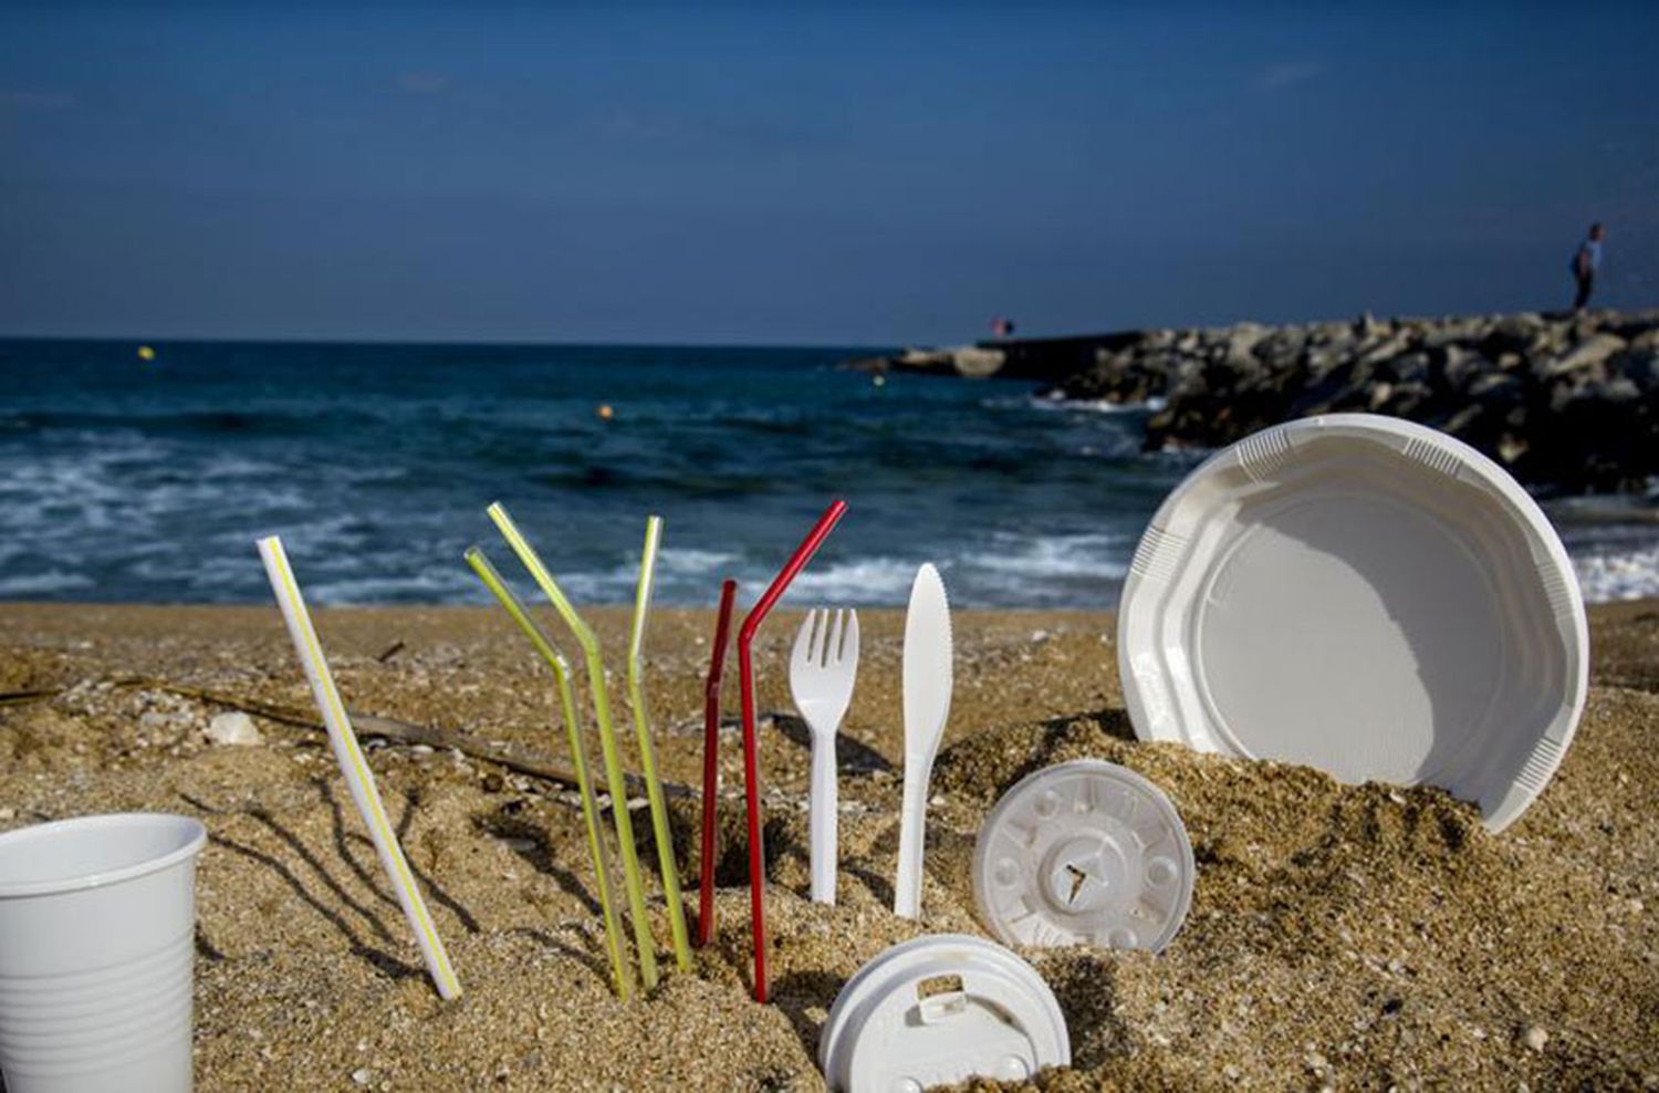
<instances>
[{"instance_id":1,"label":"white ribbed plastic cup standing on the sand","mask_svg":"<svg viewBox=\"0 0 1659 1093\"><path fill-rule=\"evenodd\" d=\"M189 1093L196 854L186 816L0 834L7 1093Z\"/></svg>"}]
</instances>

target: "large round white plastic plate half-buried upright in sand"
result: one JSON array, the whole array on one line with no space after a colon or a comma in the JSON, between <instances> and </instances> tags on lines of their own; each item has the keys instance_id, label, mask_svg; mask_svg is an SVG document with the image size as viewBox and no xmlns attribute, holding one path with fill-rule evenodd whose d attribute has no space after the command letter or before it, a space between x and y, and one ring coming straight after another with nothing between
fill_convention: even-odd
<instances>
[{"instance_id":1,"label":"large round white plastic plate half-buried upright in sand","mask_svg":"<svg viewBox=\"0 0 1659 1093\"><path fill-rule=\"evenodd\" d=\"M1443 786L1493 831L1559 766L1588 662L1578 581L1526 491L1374 415L1204 461L1153 516L1118 607L1143 740Z\"/></svg>"}]
</instances>

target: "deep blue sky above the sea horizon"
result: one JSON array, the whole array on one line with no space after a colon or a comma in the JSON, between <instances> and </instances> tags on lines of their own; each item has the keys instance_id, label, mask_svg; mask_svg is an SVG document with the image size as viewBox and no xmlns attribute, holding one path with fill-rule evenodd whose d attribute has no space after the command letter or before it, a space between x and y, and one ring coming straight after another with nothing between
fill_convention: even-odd
<instances>
[{"instance_id":1,"label":"deep blue sky above the sea horizon","mask_svg":"<svg viewBox=\"0 0 1659 1093\"><path fill-rule=\"evenodd\" d=\"M1659 5L0 7L0 335L1659 304Z\"/></svg>"}]
</instances>

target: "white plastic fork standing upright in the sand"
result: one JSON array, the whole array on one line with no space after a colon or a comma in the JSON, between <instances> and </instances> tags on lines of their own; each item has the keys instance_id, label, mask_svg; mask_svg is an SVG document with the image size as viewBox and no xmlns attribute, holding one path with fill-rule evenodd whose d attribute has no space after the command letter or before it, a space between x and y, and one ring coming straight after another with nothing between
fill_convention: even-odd
<instances>
[{"instance_id":1,"label":"white plastic fork standing upright in the sand","mask_svg":"<svg viewBox=\"0 0 1659 1093\"><path fill-rule=\"evenodd\" d=\"M858 678L858 612L806 612L790 655L790 693L813 733L811 861L813 902L834 902L836 761L834 735Z\"/></svg>"}]
</instances>

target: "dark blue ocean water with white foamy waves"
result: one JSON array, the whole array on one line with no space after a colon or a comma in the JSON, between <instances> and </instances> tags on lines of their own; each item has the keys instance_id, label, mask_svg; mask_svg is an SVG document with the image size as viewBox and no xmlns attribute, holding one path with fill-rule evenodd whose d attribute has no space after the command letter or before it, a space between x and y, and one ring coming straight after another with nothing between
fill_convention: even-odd
<instances>
[{"instance_id":1,"label":"dark blue ocean water with white foamy waves","mask_svg":"<svg viewBox=\"0 0 1659 1093\"><path fill-rule=\"evenodd\" d=\"M280 534L317 602L481 602L469 544L519 576L499 499L586 602L632 599L660 514L659 602L710 604L844 498L796 604L902 604L924 561L961 605L1117 602L1198 456L1141 454L1145 411L878 386L836 368L858 353L0 340L0 597L262 602L254 541ZM1659 589L1627 509L1558 509L1593 599Z\"/></svg>"}]
</instances>

